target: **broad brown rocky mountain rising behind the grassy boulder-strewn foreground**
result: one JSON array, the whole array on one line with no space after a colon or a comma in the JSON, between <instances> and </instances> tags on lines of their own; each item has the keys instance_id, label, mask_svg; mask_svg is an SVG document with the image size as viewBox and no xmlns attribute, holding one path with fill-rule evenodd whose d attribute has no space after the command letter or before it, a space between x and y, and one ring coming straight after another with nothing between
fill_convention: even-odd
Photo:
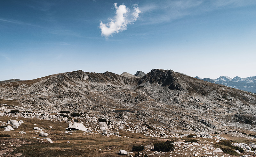
<instances>
[{"instance_id":1,"label":"broad brown rocky mountain rising behind the grassy boulder-strewn foreground","mask_svg":"<svg viewBox=\"0 0 256 157\"><path fill-rule=\"evenodd\" d=\"M153 69L141 78L78 70L1 83L0 93L0 103L24 111L68 110L196 132L256 131L255 94L172 70Z\"/></svg>"}]
</instances>

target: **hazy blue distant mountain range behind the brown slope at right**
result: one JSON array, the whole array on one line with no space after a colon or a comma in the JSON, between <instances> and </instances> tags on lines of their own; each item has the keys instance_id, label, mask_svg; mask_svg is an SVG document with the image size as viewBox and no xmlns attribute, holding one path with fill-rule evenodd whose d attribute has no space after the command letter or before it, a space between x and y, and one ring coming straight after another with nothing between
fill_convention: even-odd
<instances>
[{"instance_id":1,"label":"hazy blue distant mountain range behind the brown slope at right","mask_svg":"<svg viewBox=\"0 0 256 157\"><path fill-rule=\"evenodd\" d=\"M244 91L256 93L256 76L241 78L241 77L234 77L233 79L228 76L220 76L217 79L210 79L210 78L200 78L198 76L195 77L196 79L204 80L211 83L216 84L223 84L225 86L241 89Z\"/></svg>"}]
</instances>

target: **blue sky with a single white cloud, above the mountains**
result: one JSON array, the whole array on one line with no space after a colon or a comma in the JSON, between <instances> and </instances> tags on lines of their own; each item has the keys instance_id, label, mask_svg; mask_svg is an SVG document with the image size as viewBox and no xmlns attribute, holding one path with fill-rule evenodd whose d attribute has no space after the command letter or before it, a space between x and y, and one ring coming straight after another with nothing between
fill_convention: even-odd
<instances>
[{"instance_id":1,"label":"blue sky with a single white cloud, above the mountains","mask_svg":"<svg viewBox=\"0 0 256 157\"><path fill-rule=\"evenodd\" d=\"M255 0L0 2L0 81L83 70L256 75Z\"/></svg>"}]
</instances>

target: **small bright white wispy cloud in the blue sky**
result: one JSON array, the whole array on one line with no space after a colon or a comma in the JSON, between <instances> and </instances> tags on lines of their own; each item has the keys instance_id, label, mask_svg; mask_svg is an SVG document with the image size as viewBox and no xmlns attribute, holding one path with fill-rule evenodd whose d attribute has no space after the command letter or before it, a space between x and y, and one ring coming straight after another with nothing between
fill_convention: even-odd
<instances>
[{"instance_id":1,"label":"small bright white wispy cloud in the blue sky","mask_svg":"<svg viewBox=\"0 0 256 157\"><path fill-rule=\"evenodd\" d=\"M99 28L101 29L101 35L106 38L114 33L126 30L127 25L135 22L141 13L137 4L134 4L134 11L132 13L124 4L117 6L117 3L114 3L114 6L116 9L116 16L113 19L109 18L109 22L107 24L100 22Z\"/></svg>"}]
</instances>

